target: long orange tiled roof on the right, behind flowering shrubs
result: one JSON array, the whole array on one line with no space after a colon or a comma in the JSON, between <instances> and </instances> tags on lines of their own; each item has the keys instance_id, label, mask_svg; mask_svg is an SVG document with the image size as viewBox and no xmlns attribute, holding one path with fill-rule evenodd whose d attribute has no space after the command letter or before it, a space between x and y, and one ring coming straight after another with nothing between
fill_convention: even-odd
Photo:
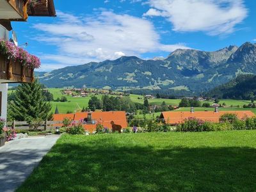
<instances>
[{"instance_id":1,"label":"long orange tiled roof on the right, behind flowering shrubs","mask_svg":"<svg viewBox=\"0 0 256 192\"><path fill-rule=\"evenodd\" d=\"M219 122L220 116L225 113L234 113L239 119L255 116L252 111L219 111L218 113L214 111L195 111L193 113L189 111L166 111L161 113L160 118L164 118L168 124L180 124L191 117L207 122Z\"/></svg>"}]
</instances>

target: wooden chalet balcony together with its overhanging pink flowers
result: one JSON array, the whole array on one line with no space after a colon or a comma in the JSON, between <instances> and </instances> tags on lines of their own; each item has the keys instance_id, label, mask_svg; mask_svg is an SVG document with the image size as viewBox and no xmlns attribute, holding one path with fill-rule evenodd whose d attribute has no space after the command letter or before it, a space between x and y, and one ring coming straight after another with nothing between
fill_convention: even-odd
<instances>
[{"instance_id":1,"label":"wooden chalet balcony together with its overhanging pink flowers","mask_svg":"<svg viewBox=\"0 0 256 192\"><path fill-rule=\"evenodd\" d=\"M12 42L0 39L1 83L31 83L34 81L34 69L39 67L39 58Z\"/></svg>"}]
</instances>

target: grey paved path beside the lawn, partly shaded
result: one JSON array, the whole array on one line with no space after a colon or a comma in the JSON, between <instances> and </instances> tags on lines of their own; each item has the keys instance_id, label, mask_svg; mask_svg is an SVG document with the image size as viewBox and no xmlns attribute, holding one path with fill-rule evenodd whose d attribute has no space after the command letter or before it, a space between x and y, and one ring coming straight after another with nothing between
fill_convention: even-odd
<instances>
[{"instance_id":1,"label":"grey paved path beside the lawn, partly shaded","mask_svg":"<svg viewBox=\"0 0 256 192\"><path fill-rule=\"evenodd\" d=\"M22 138L0 147L0 191L15 191L59 137Z\"/></svg>"}]
</instances>

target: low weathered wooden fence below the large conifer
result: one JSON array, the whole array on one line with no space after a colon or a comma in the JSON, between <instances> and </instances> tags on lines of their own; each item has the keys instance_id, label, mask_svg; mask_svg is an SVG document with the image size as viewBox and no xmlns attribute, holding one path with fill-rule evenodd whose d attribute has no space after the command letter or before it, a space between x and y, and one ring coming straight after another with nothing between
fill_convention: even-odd
<instances>
[{"instance_id":1,"label":"low weathered wooden fence below the large conifer","mask_svg":"<svg viewBox=\"0 0 256 192\"><path fill-rule=\"evenodd\" d=\"M47 130L47 129L54 129L56 127L61 127L62 121L43 121L37 127L37 130ZM7 122L7 127L14 129L22 129L22 130L35 130L34 127L29 127L28 122Z\"/></svg>"}]
</instances>

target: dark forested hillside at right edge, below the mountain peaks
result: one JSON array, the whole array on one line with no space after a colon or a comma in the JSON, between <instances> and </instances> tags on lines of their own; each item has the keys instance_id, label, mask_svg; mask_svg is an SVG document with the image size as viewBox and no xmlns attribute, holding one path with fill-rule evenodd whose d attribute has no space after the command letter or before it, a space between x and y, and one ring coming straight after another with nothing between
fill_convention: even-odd
<instances>
[{"instance_id":1,"label":"dark forested hillside at right edge, below the mountain peaks","mask_svg":"<svg viewBox=\"0 0 256 192\"><path fill-rule=\"evenodd\" d=\"M250 74L237 76L204 95L220 99L255 100L256 76Z\"/></svg>"}]
</instances>

